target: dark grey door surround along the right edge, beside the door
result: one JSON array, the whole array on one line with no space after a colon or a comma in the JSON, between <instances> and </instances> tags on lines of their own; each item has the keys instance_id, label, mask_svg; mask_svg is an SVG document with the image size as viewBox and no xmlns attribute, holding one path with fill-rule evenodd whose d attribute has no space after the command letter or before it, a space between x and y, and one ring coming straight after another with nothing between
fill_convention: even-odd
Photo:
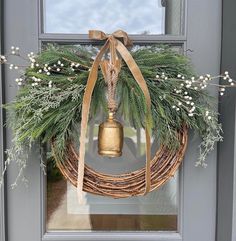
<instances>
[{"instance_id":1,"label":"dark grey door surround along the right edge, beside the door","mask_svg":"<svg viewBox=\"0 0 236 241\"><path fill-rule=\"evenodd\" d=\"M221 70L236 79L236 1L223 1ZM236 91L232 89L220 102L220 121L224 142L219 144L217 240L236 240Z\"/></svg>"}]
</instances>

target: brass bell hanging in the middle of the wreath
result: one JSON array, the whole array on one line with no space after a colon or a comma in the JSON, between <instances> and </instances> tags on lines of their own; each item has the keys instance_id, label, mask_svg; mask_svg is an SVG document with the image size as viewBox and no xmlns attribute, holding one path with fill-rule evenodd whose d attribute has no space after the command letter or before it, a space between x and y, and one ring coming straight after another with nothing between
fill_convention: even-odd
<instances>
[{"instance_id":1,"label":"brass bell hanging in the middle of the wreath","mask_svg":"<svg viewBox=\"0 0 236 241\"><path fill-rule=\"evenodd\" d=\"M107 157L121 156L123 139L123 126L114 119L114 114L110 112L108 119L99 125L98 154Z\"/></svg>"}]
</instances>

